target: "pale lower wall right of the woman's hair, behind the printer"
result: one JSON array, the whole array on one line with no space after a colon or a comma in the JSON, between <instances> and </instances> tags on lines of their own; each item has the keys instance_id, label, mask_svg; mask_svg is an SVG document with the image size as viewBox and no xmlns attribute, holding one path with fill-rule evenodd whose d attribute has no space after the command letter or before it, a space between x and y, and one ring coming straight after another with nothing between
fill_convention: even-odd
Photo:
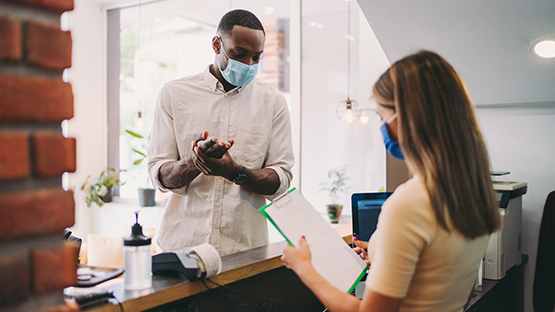
<instances>
[{"instance_id":1,"label":"pale lower wall right of the woman's hair, behind the printer","mask_svg":"<svg viewBox=\"0 0 555 312\"><path fill-rule=\"evenodd\" d=\"M472 91L472 90L471 90ZM529 255L524 270L525 311L532 312L532 289L538 233L543 206L555 190L555 102L551 107L477 109L494 170L511 174L499 178L528 183L522 204L522 252Z\"/></svg>"}]
</instances>

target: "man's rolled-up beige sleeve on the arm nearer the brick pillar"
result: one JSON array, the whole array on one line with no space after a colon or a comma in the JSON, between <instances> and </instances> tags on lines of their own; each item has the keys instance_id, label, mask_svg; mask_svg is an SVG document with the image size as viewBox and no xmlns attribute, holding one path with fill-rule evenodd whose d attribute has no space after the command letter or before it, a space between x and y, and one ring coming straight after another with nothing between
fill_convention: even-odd
<instances>
[{"instance_id":1,"label":"man's rolled-up beige sleeve on the arm nearer the brick pillar","mask_svg":"<svg viewBox=\"0 0 555 312\"><path fill-rule=\"evenodd\" d=\"M158 94L154 109L154 121L147 152L148 173L153 185L162 192L171 191L184 195L186 186L179 189L166 188L159 179L160 168L167 162L179 160L175 138L171 95L164 86Z\"/></svg>"}]
</instances>

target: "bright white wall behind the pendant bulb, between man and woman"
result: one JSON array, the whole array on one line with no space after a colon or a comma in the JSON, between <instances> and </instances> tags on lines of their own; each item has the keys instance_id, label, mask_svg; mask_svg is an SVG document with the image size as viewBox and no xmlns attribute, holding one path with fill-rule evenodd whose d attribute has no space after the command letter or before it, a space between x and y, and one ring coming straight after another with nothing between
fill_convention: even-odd
<instances>
[{"instance_id":1,"label":"bright white wall behind the pendant bulb, between man and woman","mask_svg":"<svg viewBox=\"0 0 555 312\"><path fill-rule=\"evenodd\" d=\"M314 14L303 1L302 59L302 146L301 191L319 211L331 200L319 192L328 181L327 171L347 166L348 192L339 200L343 214L351 214L350 196L356 192L385 187L385 149L374 111L366 125L351 125L336 115L336 107L347 98L347 10ZM389 62L356 2L351 3L351 88L350 98L369 109L372 86L389 67ZM309 6L310 8L310 6ZM323 28L310 26L322 23ZM360 56L360 57L359 57Z\"/></svg>"}]
</instances>

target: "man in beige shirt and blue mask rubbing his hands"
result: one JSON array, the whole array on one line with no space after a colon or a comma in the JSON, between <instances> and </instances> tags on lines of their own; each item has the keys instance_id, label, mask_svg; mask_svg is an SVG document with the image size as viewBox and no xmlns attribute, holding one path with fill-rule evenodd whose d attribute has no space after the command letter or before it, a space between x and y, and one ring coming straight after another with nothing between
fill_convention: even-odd
<instances>
[{"instance_id":1,"label":"man in beige shirt and blue mask rubbing his hands","mask_svg":"<svg viewBox=\"0 0 555 312\"><path fill-rule=\"evenodd\" d=\"M294 158L285 97L254 78L264 39L254 14L230 11L212 39L214 64L160 91L148 166L172 192L158 236L165 251L210 243L226 255L268 243L258 208L289 188Z\"/></svg>"}]
</instances>

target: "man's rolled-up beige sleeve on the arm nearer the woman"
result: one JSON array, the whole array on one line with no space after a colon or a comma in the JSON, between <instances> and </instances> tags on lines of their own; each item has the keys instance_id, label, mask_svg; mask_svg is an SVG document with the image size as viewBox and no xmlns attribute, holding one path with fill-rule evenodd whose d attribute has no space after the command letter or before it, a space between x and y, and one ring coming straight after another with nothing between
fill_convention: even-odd
<instances>
[{"instance_id":1,"label":"man's rolled-up beige sleeve on the arm nearer the woman","mask_svg":"<svg viewBox=\"0 0 555 312\"><path fill-rule=\"evenodd\" d=\"M268 200L273 200L287 191L293 179L291 168L294 164L289 109L285 97L279 94L274 106L270 145L264 160L264 168L273 169L277 173L280 185L273 195L265 196Z\"/></svg>"}]
</instances>

